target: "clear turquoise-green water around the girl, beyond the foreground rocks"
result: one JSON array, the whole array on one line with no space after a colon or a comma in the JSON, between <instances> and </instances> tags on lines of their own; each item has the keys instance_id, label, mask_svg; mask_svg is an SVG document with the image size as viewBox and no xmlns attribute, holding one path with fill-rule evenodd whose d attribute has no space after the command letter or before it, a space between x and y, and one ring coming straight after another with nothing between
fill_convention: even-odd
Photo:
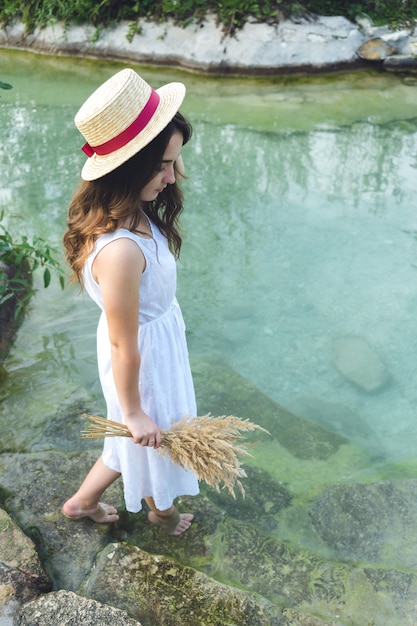
<instances>
[{"instance_id":1,"label":"clear turquoise-green water around the girl, beyond the foreground rocks","mask_svg":"<svg viewBox=\"0 0 417 626\"><path fill-rule=\"evenodd\" d=\"M0 80L13 85L0 92L0 206L11 232L60 246L84 160L74 114L123 66L0 51ZM140 72L156 87L188 88L195 133L183 152L178 296L191 357L218 355L273 401L345 435L373 456L375 476L381 462L413 463L417 79ZM4 363L3 450L30 449L45 416L80 387L97 389L94 305L37 280ZM340 337L359 337L388 382L366 391L343 375Z\"/></svg>"}]
</instances>

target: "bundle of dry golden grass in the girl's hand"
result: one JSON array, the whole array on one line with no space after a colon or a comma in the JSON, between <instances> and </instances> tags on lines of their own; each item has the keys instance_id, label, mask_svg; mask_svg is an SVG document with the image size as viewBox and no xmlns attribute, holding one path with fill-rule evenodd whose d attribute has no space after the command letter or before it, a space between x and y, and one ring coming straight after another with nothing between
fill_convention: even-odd
<instances>
[{"instance_id":1,"label":"bundle of dry golden grass in the girl's hand","mask_svg":"<svg viewBox=\"0 0 417 626\"><path fill-rule=\"evenodd\" d=\"M95 415L83 417L91 422L82 432L84 438L131 437L124 424ZM241 434L251 430L268 433L261 426L234 415L184 417L172 426L172 430L161 431L162 444L157 451L168 455L180 467L192 470L199 480L204 480L217 491L223 483L223 488L235 497L236 485L244 496L245 490L239 479L244 478L246 472L238 457L252 456Z\"/></svg>"}]
</instances>

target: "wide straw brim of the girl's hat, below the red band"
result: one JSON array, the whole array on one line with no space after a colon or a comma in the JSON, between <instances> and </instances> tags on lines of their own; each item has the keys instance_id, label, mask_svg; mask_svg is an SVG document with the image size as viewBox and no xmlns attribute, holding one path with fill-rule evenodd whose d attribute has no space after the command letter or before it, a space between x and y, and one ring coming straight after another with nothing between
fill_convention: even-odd
<instances>
[{"instance_id":1,"label":"wide straw brim of the girl's hat, below the red band","mask_svg":"<svg viewBox=\"0 0 417 626\"><path fill-rule=\"evenodd\" d=\"M169 124L184 100L185 85L168 83L156 89L156 92L160 98L159 104L146 128L119 150L104 156L93 154L89 157L81 170L83 180L96 180L109 174L147 146Z\"/></svg>"}]
</instances>

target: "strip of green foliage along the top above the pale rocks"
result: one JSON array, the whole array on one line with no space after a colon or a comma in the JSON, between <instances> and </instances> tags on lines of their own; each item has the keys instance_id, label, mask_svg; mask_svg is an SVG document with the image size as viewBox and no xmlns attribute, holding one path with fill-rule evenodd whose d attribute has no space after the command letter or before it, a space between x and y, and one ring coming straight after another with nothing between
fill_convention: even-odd
<instances>
[{"instance_id":1,"label":"strip of green foliage along the top above the pale rocks","mask_svg":"<svg viewBox=\"0 0 417 626\"><path fill-rule=\"evenodd\" d=\"M217 16L227 32L241 28L249 19L273 22L300 15L342 15L355 19L367 15L375 23L411 25L417 18L417 0L2 0L0 23L23 20L26 29L61 21L88 23L96 27L128 20L128 38L138 32L139 18L162 21L174 19L181 25L201 21L208 13Z\"/></svg>"}]
</instances>

